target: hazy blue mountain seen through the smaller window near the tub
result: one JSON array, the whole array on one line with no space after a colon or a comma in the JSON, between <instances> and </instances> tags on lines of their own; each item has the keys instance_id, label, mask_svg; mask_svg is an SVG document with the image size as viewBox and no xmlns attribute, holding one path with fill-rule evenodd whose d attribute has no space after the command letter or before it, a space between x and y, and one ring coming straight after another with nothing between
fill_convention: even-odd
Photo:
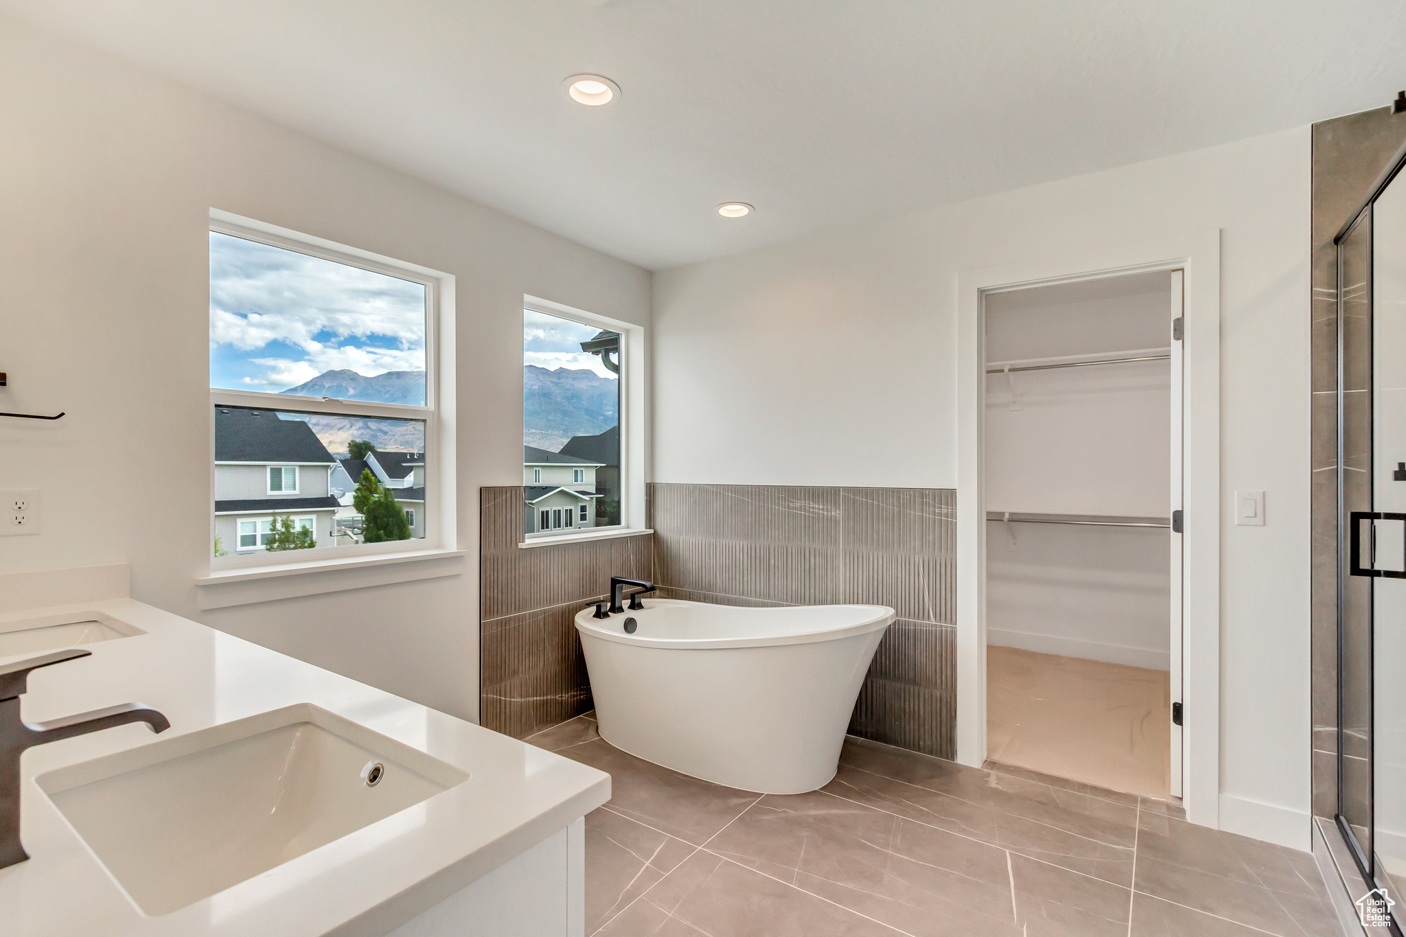
<instances>
[{"instance_id":1,"label":"hazy blue mountain seen through the smaller window near the tub","mask_svg":"<svg viewBox=\"0 0 1406 937\"><path fill-rule=\"evenodd\" d=\"M523 443L557 452L620 423L620 382L595 371L523 365Z\"/></svg>"}]
</instances>

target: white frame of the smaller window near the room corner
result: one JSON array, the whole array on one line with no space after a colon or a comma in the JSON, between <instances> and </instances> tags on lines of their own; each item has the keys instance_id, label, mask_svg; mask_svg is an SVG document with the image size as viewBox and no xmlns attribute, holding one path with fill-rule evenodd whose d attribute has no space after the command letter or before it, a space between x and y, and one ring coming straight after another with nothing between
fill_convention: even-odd
<instances>
[{"instance_id":1,"label":"white frame of the smaller window near the room corner","mask_svg":"<svg viewBox=\"0 0 1406 937\"><path fill-rule=\"evenodd\" d=\"M530 545L531 541L537 539L567 539L576 537L591 539L593 537L647 532L644 523L644 433L648 423L648 402L644 396L644 384L648 361L644 326L565 306L550 299L541 299L540 296L524 295L523 310L555 316L591 329L607 329L620 336L620 374L617 375L620 381L620 523L609 527L562 527L555 530L544 530L538 524L537 531L523 534L523 545ZM576 482L571 483L575 485Z\"/></svg>"}]
</instances>

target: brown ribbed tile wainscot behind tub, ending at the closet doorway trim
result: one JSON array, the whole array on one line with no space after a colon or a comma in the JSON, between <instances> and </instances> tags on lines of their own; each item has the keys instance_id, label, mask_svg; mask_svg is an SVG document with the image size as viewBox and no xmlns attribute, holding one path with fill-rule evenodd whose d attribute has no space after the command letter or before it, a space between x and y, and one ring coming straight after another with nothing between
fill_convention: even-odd
<instances>
[{"instance_id":1,"label":"brown ribbed tile wainscot behind tub, ending at the closet doorway trim","mask_svg":"<svg viewBox=\"0 0 1406 937\"><path fill-rule=\"evenodd\" d=\"M662 596L893 607L849 732L955 756L956 492L655 483L648 503Z\"/></svg>"}]
</instances>

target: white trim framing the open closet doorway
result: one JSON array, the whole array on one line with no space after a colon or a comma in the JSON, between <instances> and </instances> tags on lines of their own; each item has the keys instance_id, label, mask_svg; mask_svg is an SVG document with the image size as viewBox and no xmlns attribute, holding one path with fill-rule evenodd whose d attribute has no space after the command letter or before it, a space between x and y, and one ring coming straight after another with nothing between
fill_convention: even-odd
<instances>
[{"instance_id":1,"label":"white trim framing the open closet doorway","mask_svg":"<svg viewBox=\"0 0 1406 937\"><path fill-rule=\"evenodd\" d=\"M1182 805L1220 819L1220 230L957 274L957 761L986 761L987 294L1184 270Z\"/></svg>"}]
</instances>

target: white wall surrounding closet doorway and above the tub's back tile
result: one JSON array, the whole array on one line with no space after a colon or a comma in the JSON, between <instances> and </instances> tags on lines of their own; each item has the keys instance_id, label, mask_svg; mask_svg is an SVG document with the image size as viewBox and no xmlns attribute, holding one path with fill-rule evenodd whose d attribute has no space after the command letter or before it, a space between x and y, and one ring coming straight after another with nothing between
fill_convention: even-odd
<instances>
[{"instance_id":1,"label":"white wall surrounding closet doorway and above the tub's back tile","mask_svg":"<svg viewBox=\"0 0 1406 937\"><path fill-rule=\"evenodd\" d=\"M658 274L654 478L952 487L959 271L1219 228L1220 818L1306 848L1309 156L1305 126Z\"/></svg>"}]
</instances>

